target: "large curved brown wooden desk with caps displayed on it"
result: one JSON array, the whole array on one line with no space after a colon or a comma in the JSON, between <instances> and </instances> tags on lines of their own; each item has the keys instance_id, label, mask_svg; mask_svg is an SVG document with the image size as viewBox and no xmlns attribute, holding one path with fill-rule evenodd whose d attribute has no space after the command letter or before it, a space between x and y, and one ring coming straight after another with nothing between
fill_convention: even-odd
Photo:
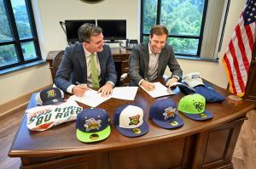
<instances>
[{"instance_id":1,"label":"large curved brown wooden desk with caps displayed on it","mask_svg":"<svg viewBox=\"0 0 256 169\"><path fill-rule=\"evenodd\" d=\"M215 85L218 92L228 93ZM171 98L178 103L183 97L176 88ZM35 106L34 95L28 108ZM161 98L163 99L163 98ZM9 150L10 157L20 157L24 168L232 168L231 158L246 114L254 105L248 101L232 105L207 104L214 115L210 121L192 121L182 113L183 127L166 130L148 120L152 99L141 88L135 103L142 106L149 132L139 138L122 136L113 123L109 138L84 144L76 138L75 121L52 127L44 132L31 132L26 128L26 115L20 124ZM114 110L131 101L109 99L99 107L108 111L111 120ZM86 106L83 105L84 108Z\"/></svg>"}]
</instances>

